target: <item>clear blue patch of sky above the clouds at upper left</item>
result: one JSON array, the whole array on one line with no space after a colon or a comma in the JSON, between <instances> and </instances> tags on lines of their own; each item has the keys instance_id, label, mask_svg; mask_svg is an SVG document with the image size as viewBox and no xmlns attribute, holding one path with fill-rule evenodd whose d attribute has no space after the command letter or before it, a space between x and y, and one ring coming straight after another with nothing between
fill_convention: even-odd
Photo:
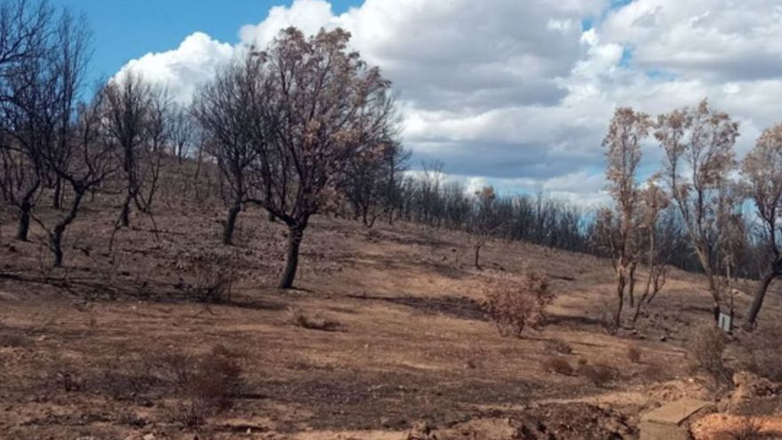
<instances>
[{"instance_id":1,"label":"clear blue patch of sky above the clouds at upper left","mask_svg":"<svg viewBox=\"0 0 782 440\"><path fill-rule=\"evenodd\" d=\"M195 31L235 44L239 27L267 17L272 6L291 0L50 0L84 13L93 34L91 80L112 76L128 61L176 47ZM332 0L342 13L359 0Z\"/></svg>"}]
</instances>

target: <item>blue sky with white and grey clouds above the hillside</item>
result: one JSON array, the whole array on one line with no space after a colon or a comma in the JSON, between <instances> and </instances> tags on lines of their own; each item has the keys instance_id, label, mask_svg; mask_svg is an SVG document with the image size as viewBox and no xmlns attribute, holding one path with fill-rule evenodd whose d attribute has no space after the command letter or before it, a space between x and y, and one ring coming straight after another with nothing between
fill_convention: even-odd
<instances>
[{"instance_id":1,"label":"blue sky with white and grey clouds above the hillside","mask_svg":"<svg viewBox=\"0 0 782 440\"><path fill-rule=\"evenodd\" d=\"M92 24L96 79L133 69L189 100L241 44L346 28L395 84L403 141L450 179L605 203L617 107L708 98L738 156L782 122L782 0L57 0ZM653 141L642 170L661 166Z\"/></svg>"}]
</instances>

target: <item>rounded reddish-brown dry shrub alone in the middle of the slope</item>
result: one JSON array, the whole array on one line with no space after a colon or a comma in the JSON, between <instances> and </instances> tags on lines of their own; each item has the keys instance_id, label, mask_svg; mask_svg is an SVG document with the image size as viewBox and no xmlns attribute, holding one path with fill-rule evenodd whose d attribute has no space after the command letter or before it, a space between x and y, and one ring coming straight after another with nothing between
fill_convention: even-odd
<instances>
[{"instance_id":1,"label":"rounded reddish-brown dry shrub alone in the middle of the slope","mask_svg":"<svg viewBox=\"0 0 782 440\"><path fill-rule=\"evenodd\" d=\"M519 337L527 326L538 329L544 323L546 308L554 299L548 277L527 270L521 284L491 286L483 306L501 335Z\"/></svg>"}]
</instances>

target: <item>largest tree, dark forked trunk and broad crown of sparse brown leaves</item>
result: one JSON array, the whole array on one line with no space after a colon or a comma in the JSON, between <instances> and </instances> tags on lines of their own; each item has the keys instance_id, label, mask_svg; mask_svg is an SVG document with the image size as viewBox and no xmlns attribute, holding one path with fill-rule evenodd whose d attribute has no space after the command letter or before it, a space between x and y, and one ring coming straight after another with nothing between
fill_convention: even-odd
<instances>
[{"instance_id":1,"label":"largest tree, dark forked trunk and broad crown of sparse brown leaves","mask_svg":"<svg viewBox=\"0 0 782 440\"><path fill-rule=\"evenodd\" d=\"M288 252L279 286L291 288L299 245L310 217L344 185L344 172L363 148L387 139L395 123L390 83L348 52L342 29L305 37L284 29L264 58L271 100L259 115L272 141L259 148L259 205L288 227Z\"/></svg>"}]
</instances>

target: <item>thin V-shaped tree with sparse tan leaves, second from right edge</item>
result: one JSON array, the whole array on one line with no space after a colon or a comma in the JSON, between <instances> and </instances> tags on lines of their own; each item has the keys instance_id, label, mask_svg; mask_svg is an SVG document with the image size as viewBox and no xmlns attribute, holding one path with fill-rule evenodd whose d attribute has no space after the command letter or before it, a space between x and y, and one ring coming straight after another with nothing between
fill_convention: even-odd
<instances>
[{"instance_id":1,"label":"thin V-shaped tree with sparse tan leaves, second from right edge","mask_svg":"<svg viewBox=\"0 0 782 440\"><path fill-rule=\"evenodd\" d=\"M734 170L733 145L738 123L726 113L709 108L703 100L696 108L682 108L658 117L655 137L666 153L664 176L671 197L682 214L690 244L698 255L711 292L714 320L721 312L722 236L720 213L725 212L725 190Z\"/></svg>"}]
</instances>

